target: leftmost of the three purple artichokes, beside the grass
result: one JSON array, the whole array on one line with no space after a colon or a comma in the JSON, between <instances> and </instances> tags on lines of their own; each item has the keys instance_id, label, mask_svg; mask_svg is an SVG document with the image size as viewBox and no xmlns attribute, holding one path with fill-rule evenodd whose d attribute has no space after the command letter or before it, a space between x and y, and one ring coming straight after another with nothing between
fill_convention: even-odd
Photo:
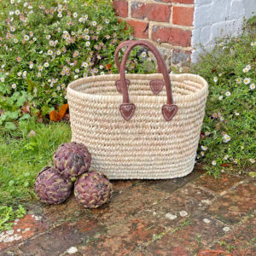
<instances>
[{"instance_id":1,"label":"leftmost of the three purple artichokes, beside the grass","mask_svg":"<svg viewBox=\"0 0 256 256\"><path fill-rule=\"evenodd\" d=\"M40 201L49 205L65 201L73 189L73 183L54 167L46 166L38 173L34 189Z\"/></svg>"}]
</instances>

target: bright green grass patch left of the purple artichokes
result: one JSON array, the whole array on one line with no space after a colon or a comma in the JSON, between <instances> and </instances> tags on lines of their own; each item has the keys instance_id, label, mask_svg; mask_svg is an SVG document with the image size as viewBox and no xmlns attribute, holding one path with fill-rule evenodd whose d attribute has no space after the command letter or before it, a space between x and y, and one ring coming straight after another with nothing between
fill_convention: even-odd
<instances>
[{"instance_id":1,"label":"bright green grass patch left of the purple artichokes","mask_svg":"<svg viewBox=\"0 0 256 256\"><path fill-rule=\"evenodd\" d=\"M44 125L31 120L20 122L19 128L11 133L0 130L0 230L20 216L20 204L36 199L35 177L51 164L55 149L71 138L67 123ZM36 136L27 137L30 131L35 131Z\"/></svg>"}]
</instances>

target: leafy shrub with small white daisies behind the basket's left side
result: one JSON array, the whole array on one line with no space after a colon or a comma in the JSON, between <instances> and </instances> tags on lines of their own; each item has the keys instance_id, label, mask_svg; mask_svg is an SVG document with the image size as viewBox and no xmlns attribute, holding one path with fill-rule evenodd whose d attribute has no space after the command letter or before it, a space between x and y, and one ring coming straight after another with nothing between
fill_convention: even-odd
<instances>
[{"instance_id":1,"label":"leafy shrub with small white daisies behind the basket's left side","mask_svg":"<svg viewBox=\"0 0 256 256\"><path fill-rule=\"evenodd\" d=\"M114 50L131 38L107 0L3 0L0 9L0 125L6 129L15 129L10 121L23 116L22 103L44 116L66 102L74 79L117 73ZM131 73L144 71L135 64L130 61Z\"/></svg>"}]
</instances>

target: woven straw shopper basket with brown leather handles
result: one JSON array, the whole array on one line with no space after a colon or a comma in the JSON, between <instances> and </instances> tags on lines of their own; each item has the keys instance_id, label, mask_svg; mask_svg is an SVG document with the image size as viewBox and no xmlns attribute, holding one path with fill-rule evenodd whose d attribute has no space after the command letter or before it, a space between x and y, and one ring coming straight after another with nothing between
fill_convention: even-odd
<instances>
[{"instance_id":1,"label":"woven straw shopper basket with brown leather handles","mask_svg":"<svg viewBox=\"0 0 256 256\"><path fill-rule=\"evenodd\" d=\"M160 73L125 74L128 55L137 45L154 54ZM91 167L110 179L172 178L192 172L207 82L193 74L169 75L160 53L147 41L119 44L115 60L120 74L68 85L72 140L86 145Z\"/></svg>"}]
</instances>

